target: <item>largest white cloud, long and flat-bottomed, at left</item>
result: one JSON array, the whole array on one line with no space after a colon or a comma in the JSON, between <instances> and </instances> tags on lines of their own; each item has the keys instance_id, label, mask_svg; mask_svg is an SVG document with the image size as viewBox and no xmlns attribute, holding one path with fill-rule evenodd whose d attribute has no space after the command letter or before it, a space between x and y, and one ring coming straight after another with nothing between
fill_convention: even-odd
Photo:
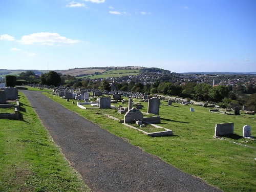
<instances>
[{"instance_id":1,"label":"largest white cloud, long and flat-bottomed, at left","mask_svg":"<svg viewBox=\"0 0 256 192\"><path fill-rule=\"evenodd\" d=\"M30 35L24 35L20 40L17 40L21 44L42 44L53 46L55 44L75 44L79 40L72 40L67 37L60 36L58 33L33 33Z\"/></svg>"}]
</instances>

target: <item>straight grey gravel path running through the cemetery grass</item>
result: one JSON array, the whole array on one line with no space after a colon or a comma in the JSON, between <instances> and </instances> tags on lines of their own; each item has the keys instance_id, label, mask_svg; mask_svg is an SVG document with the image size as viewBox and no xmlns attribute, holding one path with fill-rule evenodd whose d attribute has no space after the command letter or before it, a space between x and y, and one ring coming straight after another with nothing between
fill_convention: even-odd
<instances>
[{"instance_id":1,"label":"straight grey gravel path running through the cemetery grass","mask_svg":"<svg viewBox=\"0 0 256 192\"><path fill-rule=\"evenodd\" d=\"M220 191L37 91L19 90L92 191Z\"/></svg>"}]
</instances>

